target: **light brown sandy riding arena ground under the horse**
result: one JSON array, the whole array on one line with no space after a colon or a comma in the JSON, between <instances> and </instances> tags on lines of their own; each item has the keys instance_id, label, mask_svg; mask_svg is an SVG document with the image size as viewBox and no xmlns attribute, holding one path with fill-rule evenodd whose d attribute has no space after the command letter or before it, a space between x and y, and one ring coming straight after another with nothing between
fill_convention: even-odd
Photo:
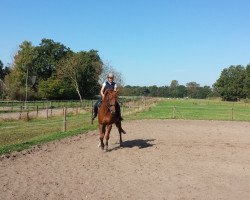
<instances>
[{"instance_id":1,"label":"light brown sandy riding arena ground under the horse","mask_svg":"<svg viewBox=\"0 0 250 200\"><path fill-rule=\"evenodd\" d=\"M0 199L250 199L250 123L123 122L110 151L98 132L0 161Z\"/></svg>"}]
</instances>

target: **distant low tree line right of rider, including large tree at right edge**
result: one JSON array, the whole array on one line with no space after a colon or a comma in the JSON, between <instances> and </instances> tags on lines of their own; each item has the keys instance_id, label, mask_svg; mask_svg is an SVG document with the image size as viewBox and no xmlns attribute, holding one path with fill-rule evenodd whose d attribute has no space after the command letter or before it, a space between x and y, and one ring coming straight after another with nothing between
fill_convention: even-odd
<instances>
[{"instance_id":1,"label":"distant low tree line right of rider, including large tree at right edge","mask_svg":"<svg viewBox=\"0 0 250 200\"><path fill-rule=\"evenodd\" d=\"M220 77L212 87L201 87L196 82L179 85L177 80L172 80L169 86L139 87L125 86L123 94L126 96L154 96L168 98L194 98L206 99L220 97L224 101L239 101L250 98L250 64L231 65L222 70Z\"/></svg>"}]
</instances>

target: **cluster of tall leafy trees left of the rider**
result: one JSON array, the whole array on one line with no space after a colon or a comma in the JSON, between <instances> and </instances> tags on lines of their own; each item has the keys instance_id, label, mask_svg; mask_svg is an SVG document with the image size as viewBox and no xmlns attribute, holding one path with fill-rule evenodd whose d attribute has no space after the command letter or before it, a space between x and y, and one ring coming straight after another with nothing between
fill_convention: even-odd
<instances>
[{"instance_id":1,"label":"cluster of tall leafy trees left of the rider","mask_svg":"<svg viewBox=\"0 0 250 200\"><path fill-rule=\"evenodd\" d=\"M4 76L2 96L9 99L92 98L99 90L103 63L96 50L74 52L51 39L38 46L24 41Z\"/></svg>"}]
</instances>

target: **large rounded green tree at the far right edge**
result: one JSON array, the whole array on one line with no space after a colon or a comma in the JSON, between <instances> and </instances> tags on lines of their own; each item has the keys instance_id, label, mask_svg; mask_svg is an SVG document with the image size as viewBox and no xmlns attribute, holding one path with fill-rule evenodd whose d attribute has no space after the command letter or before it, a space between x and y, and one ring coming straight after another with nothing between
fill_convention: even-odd
<instances>
[{"instance_id":1,"label":"large rounded green tree at the far right edge","mask_svg":"<svg viewBox=\"0 0 250 200\"><path fill-rule=\"evenodd\" d=\"M223 100L236 101L246 97L244 90L246 70L241 65L231 65L223 69L213 87Z\"/></svg>"}]
</instances>

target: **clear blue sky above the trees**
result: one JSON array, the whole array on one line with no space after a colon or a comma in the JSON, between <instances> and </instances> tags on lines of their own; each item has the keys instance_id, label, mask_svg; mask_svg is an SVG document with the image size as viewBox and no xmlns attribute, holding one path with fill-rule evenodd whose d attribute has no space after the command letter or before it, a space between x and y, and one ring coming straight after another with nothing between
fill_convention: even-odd
<instances>
[{"instance_id":1,"label":"clear blue sky above the trees","mask_svg":"<svg viewBox=\"0 0 250 200\"><path fill-rule=\"evenodd\" d=\"M52 39L98 51L125 85L212 86L250 63L250 0L1 0L0 60Z\"/></svg>"}]
</instances>

